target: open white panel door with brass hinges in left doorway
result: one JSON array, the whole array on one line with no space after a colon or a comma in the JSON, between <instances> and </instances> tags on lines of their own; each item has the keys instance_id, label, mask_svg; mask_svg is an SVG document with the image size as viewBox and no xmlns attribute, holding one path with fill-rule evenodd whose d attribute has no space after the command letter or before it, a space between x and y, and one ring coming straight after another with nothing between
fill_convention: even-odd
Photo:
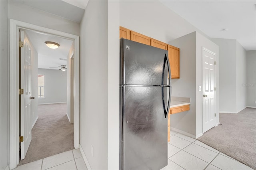
<instances>
[{"instance_id":1,"label":"open white panel door with brass hinges in left doorway","mask_svg":"<svg viewBox=\"0 0 256 170\"><path fill-rule=\"evenodd\" d=\"M20 136L24 137L21 142L21 159L24 159L32 139L32 108L31 108L31 47L24 31L20 31L20 89L24 92L20 95Z\"/></svg>"}]
</instances>

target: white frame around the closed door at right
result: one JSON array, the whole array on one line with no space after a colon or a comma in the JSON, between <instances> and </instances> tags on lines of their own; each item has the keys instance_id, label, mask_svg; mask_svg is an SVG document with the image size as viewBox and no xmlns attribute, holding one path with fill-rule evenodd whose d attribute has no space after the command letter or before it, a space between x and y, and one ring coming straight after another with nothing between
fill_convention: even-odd
<instances>
[{"instance_id":1,"label":"white frame around the closed door at right","mask_svg":"<svg viewBox=\"0 0 256 170\"><path fill-rule=\"evenodd\" d=\"M214 53L212 51L210 51L209 49L207 49L206 47L203 47L202 46L202 75L203 75L203 70L204 70L204 63L203 63L203 51L207 51L208 53L211 53L212 55L215 56L215 62L217 61L217 53ZM217 79L216 79L216 76L217 76L217 69L216 69L216 64L214 65L214 88L216 88L217 86ZM203 76L202 76L202 85L203 85ZM203 88L202 88L203 89ZM203 91L202 91L203 92ZM202 93L203 95L203 93ZM216 100L217 100L217 93L216 93L216 90L214 91L214 109L215 109L215 114L217 112L217 103L216 103ZM203 99L202 99L202 134L204 134L204 119L203 119L203 116L204 116L204 110L203 110ZM216 114L217 116L217 114ZM216 116L214 117L214 127L216 126Z\"/></svg>"}]
</instances>

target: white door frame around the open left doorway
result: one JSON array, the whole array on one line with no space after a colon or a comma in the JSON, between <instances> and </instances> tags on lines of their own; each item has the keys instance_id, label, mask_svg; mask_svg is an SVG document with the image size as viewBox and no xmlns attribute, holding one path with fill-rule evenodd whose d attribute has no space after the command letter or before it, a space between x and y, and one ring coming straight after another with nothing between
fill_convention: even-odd
<instances>
[{"instance_id":1,"label":"white door frame around the open left doorway","mask_svg":"<svg viewBox=\"0 0 256 170\"><path fill-rule=\"evenodd\" d=\"M10 170L19 164L19 29L34 30L74 41L74 148L79 148L79 36L10 19Z\"/></svg>"}]
</instances>

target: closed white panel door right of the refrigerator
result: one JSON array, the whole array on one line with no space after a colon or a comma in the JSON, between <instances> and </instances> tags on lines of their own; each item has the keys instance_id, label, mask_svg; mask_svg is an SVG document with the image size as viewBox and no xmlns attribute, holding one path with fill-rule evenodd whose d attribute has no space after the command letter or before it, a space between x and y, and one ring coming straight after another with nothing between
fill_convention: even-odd
<instances>
[{"instance_id":1,"label":"closed white panel door right of the refrigerator","mask_svg":"<svg viewBox=\"0 0 256 170\"><path fill-rule=\"evenodd\" d=\"M215 125L215 53L202 49L203 132Z\"/></svg>"}]
</instances>

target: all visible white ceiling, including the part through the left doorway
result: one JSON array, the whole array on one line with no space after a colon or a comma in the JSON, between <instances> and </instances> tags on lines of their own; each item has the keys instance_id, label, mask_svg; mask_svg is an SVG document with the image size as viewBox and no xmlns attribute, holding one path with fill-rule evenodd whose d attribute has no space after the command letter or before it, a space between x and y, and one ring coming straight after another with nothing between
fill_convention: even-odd
<instances>
[{"instance_id":1,"label":"all visible white ceiling, including the part through the left doorway","mask_svg":"<svg viewBox=\"0 0 256 170\"><path fill-rule=\"evenodd\" d=\"M88 0L17 0L39 10L80 23ZM246 50L256 50L255 0L160 0L210 38L236 39ZM49 4L50 3L50 4ZM66 65L71 40L26 31L38 52L38 68ZM60 44L50 49L45 41Z\"/></svg>"}]
</instances>

